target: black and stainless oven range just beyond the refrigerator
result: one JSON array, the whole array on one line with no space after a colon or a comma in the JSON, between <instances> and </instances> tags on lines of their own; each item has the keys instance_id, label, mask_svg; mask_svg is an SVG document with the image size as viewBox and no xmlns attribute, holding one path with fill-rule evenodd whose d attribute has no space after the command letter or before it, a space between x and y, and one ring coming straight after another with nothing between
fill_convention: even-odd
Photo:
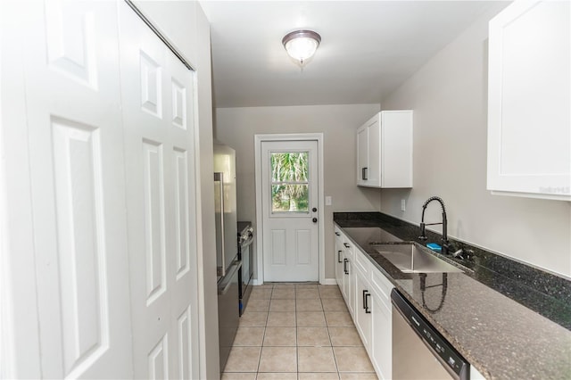
<instances>
[{"instance_id":1,"label":"black and stainless oven range just beyond the refrigerator","mask_svg":"<svg viewBox=\"0 0 571 380\"><path fill-rule=\"evenodd\" d=\"M240 315L244 314L246 304L252 293L253 278L253 227L251 222L238 222L238 260L242 260L240 271Z\"/></svg>"}]
</instances>

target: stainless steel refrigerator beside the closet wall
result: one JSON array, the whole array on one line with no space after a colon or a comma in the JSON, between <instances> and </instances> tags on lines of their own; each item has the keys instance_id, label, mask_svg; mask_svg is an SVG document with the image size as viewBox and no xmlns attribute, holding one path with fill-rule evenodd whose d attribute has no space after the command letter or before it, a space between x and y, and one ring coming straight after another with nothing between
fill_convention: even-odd
<instances>
[{"instance_id":1,"label":"stainless steel refrigerator beside the closet wall","mask_svg":"<svg viewBox=\"0 0 571 380\"><path fill-rule=\"evenodd\" d=\"M214 145L214 205L218 276L220 372L224 370L240 318L236 225L236 151Z\"/></svg>"}]
</instances>

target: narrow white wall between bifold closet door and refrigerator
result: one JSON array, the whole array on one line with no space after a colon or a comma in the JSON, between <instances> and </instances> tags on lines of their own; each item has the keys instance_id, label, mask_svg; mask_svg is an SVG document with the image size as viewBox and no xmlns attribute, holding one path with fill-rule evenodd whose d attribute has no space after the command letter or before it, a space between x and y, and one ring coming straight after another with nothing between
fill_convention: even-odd
<instances>
[{"instance_id":1,"label":"narrow white wall between bifold closet door and refrigerator","mask_svg":"<svg viewBox=\"0 0 571 380\"><path fill-rule=\"evenodd\" d=\"M170 39L187 62L194 66L197 75L198 131L196 147L199 150L200 196L198 234L199 290L201 329L201 378L219 378L218 344L218 293L216 288L216 252L214 237L214 195L212 194L212 95L211 95L211 41L210 24L200 4L194 1L137 1L155 27Z\"/></svg>"}]
</instances>

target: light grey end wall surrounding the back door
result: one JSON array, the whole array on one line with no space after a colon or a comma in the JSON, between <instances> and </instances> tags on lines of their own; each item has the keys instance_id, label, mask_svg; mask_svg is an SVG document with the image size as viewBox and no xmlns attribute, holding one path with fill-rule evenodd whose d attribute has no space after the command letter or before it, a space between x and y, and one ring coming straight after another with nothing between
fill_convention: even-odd
<instances>
[{"instance_id":1,"label":"light grey end wall surrounding the back door","mask_svg":"<svg viewBox=\"0 0 571 380\"><path fill-rule=\"evenodd\" d=\"M254 135L271 133L324 134L325 194L333 198L326 206L325 277L335 278L334 211L376 211L380 194L374 189L355 186L357 162L355 129L379 111L378 104L311 105L292 107L219 108L215 136L236 149L238 219L256 218L254 180Z\"/></svg>"}]
</instances>

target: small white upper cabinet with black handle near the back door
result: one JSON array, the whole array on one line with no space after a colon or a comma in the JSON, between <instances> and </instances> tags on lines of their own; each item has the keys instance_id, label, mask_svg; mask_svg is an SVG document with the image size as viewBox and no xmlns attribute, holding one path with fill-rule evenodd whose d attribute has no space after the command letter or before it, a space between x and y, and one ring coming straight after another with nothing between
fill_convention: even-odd
<instances>
[{"instance_id":1,"label":"small white upper cabinet with black handle near the back door","mask_svg":"<svg viewBox=\"0 0 571 380\"><path fill-rule=\"evenodd\" d=\"M357 185L412 187L412 111L383 111L357 129Z\"/></svg>"}]
</instances>

